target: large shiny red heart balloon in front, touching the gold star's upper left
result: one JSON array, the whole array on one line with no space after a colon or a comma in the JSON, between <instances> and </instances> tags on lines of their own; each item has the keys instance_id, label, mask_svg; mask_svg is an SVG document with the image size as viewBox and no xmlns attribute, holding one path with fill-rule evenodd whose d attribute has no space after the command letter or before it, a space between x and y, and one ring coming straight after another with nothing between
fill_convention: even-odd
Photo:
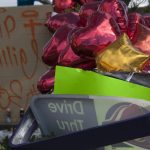
<instances>
[{"instance_id":1,"label":"large shiny red heart balloon in front, touching the gold star's upper left","mask_svg":"<svg viewBox=\"0 0 150 150\"><path fill-rule=\"evenodd\" d=\"M95 12L86 27L72 34L71 45L77 55L93 58L118 36L120 30L116 21L107 13Z\"/></svg>"}]
</instances>

